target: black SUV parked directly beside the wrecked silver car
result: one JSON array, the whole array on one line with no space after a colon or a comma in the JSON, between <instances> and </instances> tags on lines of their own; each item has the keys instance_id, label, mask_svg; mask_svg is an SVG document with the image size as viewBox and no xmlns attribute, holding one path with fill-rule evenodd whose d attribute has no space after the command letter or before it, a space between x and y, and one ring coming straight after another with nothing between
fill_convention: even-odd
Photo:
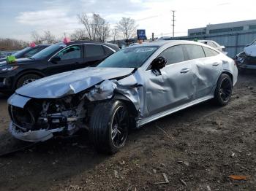
<instances>
[{"instance_id":1,"label":"black SUV parked directly beside the wrecked silver car","mask_svg":"<svg viewBox=\"0 0 256 191\"><path fill-rule=\"evenodd\" d=\"M29 58L0 62L0 92L12 93L36 79L94 66L118 51L116 44L75 41L52 44Z\"/></svg>"}]
</instances>

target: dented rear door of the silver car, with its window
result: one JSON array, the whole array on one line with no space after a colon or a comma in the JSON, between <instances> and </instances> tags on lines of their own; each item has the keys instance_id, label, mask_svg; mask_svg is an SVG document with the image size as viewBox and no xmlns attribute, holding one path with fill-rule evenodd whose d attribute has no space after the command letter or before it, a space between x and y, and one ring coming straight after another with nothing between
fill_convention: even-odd
<instances>
[{"instance_id":1,"label":"dented rear door of the silver car, with its window","mask_svg":"<svg viewBox=\"0 0 256 191\"><path fill-rule=\"evenodd\" d=\"M195 87L195 99L203 98L209 95L214 85L216 85L222 61L220 61L218 56L206 57L206 53L200 45L186 44L184 48L194 73L193 84ZM207 47L207 50L210 51L212 49ZM212 51L211 55L217 55L219 53L215 50Z\"/></svg>"}]
</instances>

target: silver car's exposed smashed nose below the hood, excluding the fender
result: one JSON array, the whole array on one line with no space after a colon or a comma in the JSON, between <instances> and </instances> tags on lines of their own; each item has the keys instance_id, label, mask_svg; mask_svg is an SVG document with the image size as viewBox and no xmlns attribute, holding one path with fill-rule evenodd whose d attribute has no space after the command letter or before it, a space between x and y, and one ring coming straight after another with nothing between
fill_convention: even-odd
<instances>
[{"instance_id":1,"label":"silver car's exposed smashed nose below the hood, excluding the fender","mask_svg":"<svg viewBox=\"0 0 256 191\"><path fill-rule=\"evenodd\" d=\"M14 94L8 100L10 133L23 141L46 141L56 133L72 135L86 128L86 112L81 95L58 99L26 98Z\"/></svg>"}]
</instances>

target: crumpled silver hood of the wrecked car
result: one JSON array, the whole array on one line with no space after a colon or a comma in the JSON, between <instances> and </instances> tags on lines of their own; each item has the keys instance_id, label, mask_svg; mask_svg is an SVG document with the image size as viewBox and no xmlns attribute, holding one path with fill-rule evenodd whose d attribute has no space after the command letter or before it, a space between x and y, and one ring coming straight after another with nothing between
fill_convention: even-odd
<instances>
[{"instance_id":1,"label":"crumpled silver hood of the wrecked car","mask_svg":"<svg viewBox=\"0 0 256 191\"><path fill-rule=\"evenodd\" d=\"M86 90L105 79L130 74L133 68L85 68L55 74L20 87L16 93L30 98L60 98Z\"/></svg>"}]
</instances>

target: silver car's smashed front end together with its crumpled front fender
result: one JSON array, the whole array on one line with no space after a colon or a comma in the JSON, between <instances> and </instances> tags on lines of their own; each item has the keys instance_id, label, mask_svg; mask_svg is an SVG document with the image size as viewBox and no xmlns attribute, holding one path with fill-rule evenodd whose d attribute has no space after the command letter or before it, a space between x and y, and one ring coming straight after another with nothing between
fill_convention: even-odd
<instances>
[{"instance_id":1,"label":"silver car's smashed front end together with its crumpled front fender","mask_svg":"<svg viewBox=\"0 0 256 191\"><path fill-rule=\"evenodd\" d=\"M30 98L15 93L8 99L10 133L16 139L38 142L58 134L70 136L81 128L89 130L91 113L100 101L112 99L115 92L119 92L138 103L138 98L131 95L135 89L129 90L116 79L106 79L89 89L61 98Z\"/></svg>"}]
</instances>

